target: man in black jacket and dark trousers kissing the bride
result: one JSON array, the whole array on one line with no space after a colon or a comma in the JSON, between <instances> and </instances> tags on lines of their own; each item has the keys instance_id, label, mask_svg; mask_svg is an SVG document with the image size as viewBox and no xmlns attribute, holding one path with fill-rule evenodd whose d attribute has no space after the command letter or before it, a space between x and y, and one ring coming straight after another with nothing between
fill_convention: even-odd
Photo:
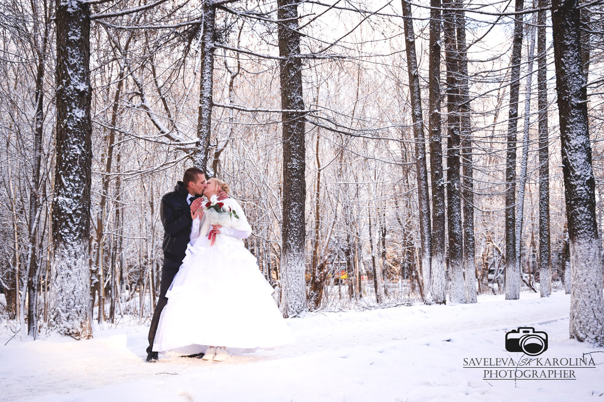
<instances>
[{"instance_id":1,"label":"man in black jacket and dark trousers kissing the bride","mask_svg":"<svg viewBox=\"0 0 604 402\"><path fill-rule=\"evenodd\" d=\"M191 233L191 213L201 208L207 183L205 174L198 168L188 168L182 181L178 181L173 192L162 196L159 213L161 223L164 225L164 266L161 269L161 283L159 287L159 301L153 311L151 327L149 328L149 347L147 347L147 362L157 362L158 353L153 351L153 340L159 324L161 311L168 299L165 297L174 275L178 272L187 251L187 244ZM220 200L228 198L225 193L218 197Z\"/></svg>"}]
</instances>

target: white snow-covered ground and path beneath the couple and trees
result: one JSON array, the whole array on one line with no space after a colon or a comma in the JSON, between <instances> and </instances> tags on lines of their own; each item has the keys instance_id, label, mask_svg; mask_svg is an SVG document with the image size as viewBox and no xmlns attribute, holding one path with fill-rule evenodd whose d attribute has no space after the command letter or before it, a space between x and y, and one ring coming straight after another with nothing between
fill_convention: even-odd
<instances>
[{"instance_id":1,"label":"white snow-covered ground and path beneath the couple and trees","mask_svg":"<svg viewBox=\"0 0 604 402\"><path fill-rule=\"evenodd\" d=\"M481 296L478 304L309 314L288 320L296 344L220 363L182 357L145 363L144 326L96 328L94 339L79 342L13 339L0 346L0 395L103 402L604 401L604 348L568 339L569 303L562 292L545 299L523 292L516 301ZM515 367L478 368L485 361L477 359L501 366L510 361L496 358L515 364L527 358L505 348L506 331L520 326L548 334L548 349L529 366L540 365L538 375L560 370L570 378L483 380L485 371ZM585 353L592 364L568 366Z\"/></svg>"}]
</instances>

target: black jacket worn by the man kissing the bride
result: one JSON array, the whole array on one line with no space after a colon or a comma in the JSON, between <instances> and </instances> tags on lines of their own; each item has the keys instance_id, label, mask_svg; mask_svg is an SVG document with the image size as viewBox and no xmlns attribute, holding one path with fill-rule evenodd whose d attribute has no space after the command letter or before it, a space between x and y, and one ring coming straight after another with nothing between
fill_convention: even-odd
<instances>
[{"instance_id":1,"label":"black jacket worn by the man kissing the bride","mask_svg":"<svg viewBox=\"0 0 604 402\"><path fill-rule=\"evenodd\" d=\"M161 198L161 223L164 225L164 258L182 263L191 233L191 209L187 203L188 191L179 181L174 191Z\"/></svg>"}]
</instances>

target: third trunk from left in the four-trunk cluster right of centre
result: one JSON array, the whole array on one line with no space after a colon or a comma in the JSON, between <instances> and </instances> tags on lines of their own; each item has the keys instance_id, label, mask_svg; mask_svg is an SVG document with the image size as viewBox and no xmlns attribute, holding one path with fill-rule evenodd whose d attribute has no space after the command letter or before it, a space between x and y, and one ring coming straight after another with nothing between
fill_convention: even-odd
<instances>
[{"instance_id":1,"label":"third trunk from left in the four-trunk cluster right of centre","mask_svg":"<svg viewBox=\"0 0 604 402\"><path fill-rule=\"evenodd\" d=\"M461 231L461 181L460 181L460 113L454 2L443 1L443 32L447 67L447 215L449 230L449 269L453 303L465 303L466 290L463 279L463 233Z\"/></svg>"}]
</instances>

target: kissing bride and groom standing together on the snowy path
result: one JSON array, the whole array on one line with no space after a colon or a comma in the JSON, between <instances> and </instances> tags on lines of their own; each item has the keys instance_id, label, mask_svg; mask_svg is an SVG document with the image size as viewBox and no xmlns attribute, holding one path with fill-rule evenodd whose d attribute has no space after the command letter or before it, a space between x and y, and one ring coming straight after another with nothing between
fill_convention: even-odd
<instances>
[{"instance_id":1,"label":"kissing bride and groom standing together on the snowy path","mask_svg":"<svg viewBox=\"0 0 604 402\"><path fill-rule=\"evenodd\" d=\"M228 184L189 168L161 199L164 265L149 328L147 362L158 353L222 361L294 341L256 258Z\"/></svg>"}]
</instances>

